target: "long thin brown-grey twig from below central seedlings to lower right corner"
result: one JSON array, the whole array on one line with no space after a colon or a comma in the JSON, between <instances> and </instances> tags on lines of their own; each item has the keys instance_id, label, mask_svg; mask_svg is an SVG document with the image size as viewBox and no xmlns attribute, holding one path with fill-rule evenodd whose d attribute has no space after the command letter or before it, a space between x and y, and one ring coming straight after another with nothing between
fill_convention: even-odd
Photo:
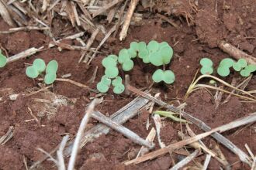
<instances>
[{"instance_id":1,"label":"long thin brown-grey twig from below central seedlings to lower right corner","mask_svg":"<svg viewBox=\"0 0 256 170\"><path fill-rule=\"evenodd\" d=\"M210 131L211 128L209 128L208 125L206 125L203 121L195 118L195 117L192 117L192 115L190 114L187 114L185 111L182 111L182 110L179 110L177 109L176 107L173 107L171 106L170 104L167 104L165 103L164 101L162 100L158 100L154 97L151 97L150 95L148 95L147 93L144 93L140 90L138 90L137 88L135 87L131 87L131 86L128 86L126 87L128 88L130 91L132 91L133 93L137 93L139 94L140 96L142 97L146 97L147 99L149 100L152 100L154 101L155 103L159 104L160 106L162 107L166 107L168 108L169 110L175 112L175 113L178 113L178 114L181 114L182 117L185 117L188 121L191 121L193 124L197 125L199 128L201 128L203 131ZM230 149L230 151L234 152L234 154L236 154L240 160L242 162L245 162L247 163L248 165L251 165L251 159L250 157L244 153L244 151L242 151L240 148L237 148L236 145L234 145L231 141L229 141L227 138L223 137L223 135L219 134L219 133L213 133L212 134L213 138L215 138L217 141L219 141L222 145L226 146L227 148Z\"/></svg>"}]
</instances>

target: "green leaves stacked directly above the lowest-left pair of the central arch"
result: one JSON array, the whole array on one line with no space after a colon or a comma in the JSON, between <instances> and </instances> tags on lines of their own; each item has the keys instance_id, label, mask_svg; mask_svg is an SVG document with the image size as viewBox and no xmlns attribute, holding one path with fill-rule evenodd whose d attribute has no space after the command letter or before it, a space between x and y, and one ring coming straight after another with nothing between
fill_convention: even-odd
<instances>
[{"instance_id":1,"label":"green leaves stacked directly above the lowest-left pair of the central arch","mask_svg":"<svg viewBox=\"0 0 256 170\"><path fill-rule=\"evenodd\" d=\"M102 65L106 68L105 75L108 78L115 78L119 74L119 70L117 68L117 59L116 55L109 55L102 60Z\"/></svg>"}]
</instances>

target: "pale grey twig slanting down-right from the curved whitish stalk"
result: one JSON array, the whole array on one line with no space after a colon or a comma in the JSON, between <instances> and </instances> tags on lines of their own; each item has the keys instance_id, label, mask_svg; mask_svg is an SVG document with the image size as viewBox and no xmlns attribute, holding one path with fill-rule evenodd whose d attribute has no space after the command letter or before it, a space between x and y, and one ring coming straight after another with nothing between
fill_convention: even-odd
<instances>
[{"instance_id":1,"label":"pale grey twig slanting down-right from the curved whitish stalk","mask_svg":"<svg viewBox=\"0 0 256 170\"><path fill-rule=\"evenodd\" d=\"M103 124L106 124L108 127L118 131L119 133L123 134L126 138L129 138L133 142L146 146L147 148L154 148L153 142L146 141L143 138L140 138L140 136L133 131L130 131L130 129L123 127L120 124L117 124L115 121L112 121L109 117L106 117L104 114L101 114L100 112L94 112L92 113L92 117L96 119L97 121L102 122Z\"/></svg>"}]
</instances>

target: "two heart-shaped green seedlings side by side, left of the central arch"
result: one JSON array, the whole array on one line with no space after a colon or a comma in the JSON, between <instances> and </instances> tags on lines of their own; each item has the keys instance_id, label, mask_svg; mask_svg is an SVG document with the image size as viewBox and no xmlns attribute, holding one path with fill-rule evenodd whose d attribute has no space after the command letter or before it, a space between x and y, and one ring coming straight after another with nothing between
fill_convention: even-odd
<instances>
[{"instance_id":1,"label":"two heart-shaped green seedlings side by side, left of the central arch","mask_svg":"<svg viewBox=\"0 0 256 170\"><path fill-rule=\"evenodd\" d=\"M51 60L47 66L43 59L35 59L32 66L26 68L26 76L35 79L37 76L42 75L45 71L44 83L51 84L57 78L58 64L56 60Z\"/></svg>"}]
</instances>

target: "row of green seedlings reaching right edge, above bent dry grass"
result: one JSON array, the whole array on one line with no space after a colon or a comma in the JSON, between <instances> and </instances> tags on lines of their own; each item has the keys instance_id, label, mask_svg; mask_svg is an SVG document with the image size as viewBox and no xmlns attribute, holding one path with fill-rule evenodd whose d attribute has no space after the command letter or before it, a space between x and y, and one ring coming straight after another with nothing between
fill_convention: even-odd
<instances>
[{"instance_id":1,"label":"row of green seedlings reaching right edge, above bent dry grass","mask_svg":"<svg viewBox=\"0 0 256 170\"><path fill-rule=\"evenodd\" d=\"M200 60L202 66L200 72L202 74L212 74L213 73L213 62L211 59L202 58ZM251 73L256 71L256 65L248 64L245 59L238 59L237 62L234 59L225 58L220 61L217 68L217 73L220 76L230 75L230 69L233 68L235 71L240 72L241 76L250 76Z\"/></svg>"}]
</instances>

